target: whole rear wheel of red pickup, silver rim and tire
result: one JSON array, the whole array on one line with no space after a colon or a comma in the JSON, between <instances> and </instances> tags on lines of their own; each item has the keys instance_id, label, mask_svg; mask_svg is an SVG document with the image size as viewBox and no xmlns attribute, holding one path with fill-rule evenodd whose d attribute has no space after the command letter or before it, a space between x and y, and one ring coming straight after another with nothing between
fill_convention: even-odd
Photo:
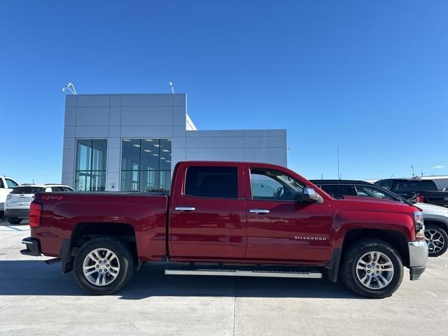
<instances>
[{"instance_id":1,"label":"whole rear wheel of red pickup, silver rim and tire","mask_svg":"<svg viewBox=\"0 0 448 336\"><path fill-rule=\"evenodd\" d=\"M87 241L76 255L76 281L87 293L108 295L118 292L135 271L130 249L113 237Z\"/></svg>"}]
</instances>

